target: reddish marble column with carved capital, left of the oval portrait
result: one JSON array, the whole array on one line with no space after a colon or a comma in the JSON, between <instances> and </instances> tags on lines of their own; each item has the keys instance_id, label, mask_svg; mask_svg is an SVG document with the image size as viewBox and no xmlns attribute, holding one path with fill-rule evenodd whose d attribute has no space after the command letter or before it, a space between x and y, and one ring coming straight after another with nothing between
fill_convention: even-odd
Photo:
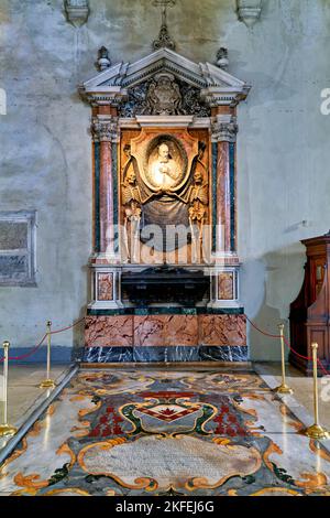
<instances>
[{"instance_id":1,"label":"reddish marble column with carved capital, left of the oval portrait","mask_svg":"<svg viewBox=\"0 0 330 518\"><path fill-rule=\"evenodd\" d=\"M113 179L112 143L117 141L118 119L98 115L92 121L94 138L100 145L99 171L99 252L112 262L116 261L114 219L113 219Z\"/></svg>"}]
</instances>

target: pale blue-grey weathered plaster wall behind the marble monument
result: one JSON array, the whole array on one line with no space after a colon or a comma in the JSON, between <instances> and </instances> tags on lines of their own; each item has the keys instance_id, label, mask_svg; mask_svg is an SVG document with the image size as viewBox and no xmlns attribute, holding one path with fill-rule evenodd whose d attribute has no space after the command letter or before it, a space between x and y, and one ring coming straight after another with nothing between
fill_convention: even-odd
<instances>
[{"instance_id":1,"label":"pale blue-grey weathered plaster wall behind the marble monument","mask_svg":"<svg viewBox=\"0 0 330 518\"><path fill-rule=\"evenodd\" d=\"M302 238L330 227L328 0L264 0L248 29L234 0L177 0L168 10L177 52L213 61L229 48L233 75L253 89L240 106L238 140L241 294L257 325L275 330L302 281ZM0 209L37 211L37 287L0 287L0 341L28 346L51 319L62 326L89 299L91 252L90 110L77 85L95 75L97 51L112 63L151 52L160 11L151 0L90 0L87 24L66 21L62 0L0 0ZM302 225L302 220L307 223ZM56 337L77 346L81 330ZM250 333L254 359L278 344Z\"/></svg>"}]
</instances>

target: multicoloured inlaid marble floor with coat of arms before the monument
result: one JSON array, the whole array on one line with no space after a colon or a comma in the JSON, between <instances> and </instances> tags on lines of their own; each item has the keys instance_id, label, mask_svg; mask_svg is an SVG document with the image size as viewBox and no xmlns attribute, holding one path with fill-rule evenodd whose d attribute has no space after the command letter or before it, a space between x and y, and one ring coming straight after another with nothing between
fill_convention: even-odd
<instances>
[{"instance_id":1,"label":"multicoloured inlaid marble floor with coat of arms before the monument","mask_svg":"<svg viewBox=\"0 0 330 518\"><path fill-rule=\"evenodd\" d=\"M330 496L330 454L255 374L82 370L0 495Z\"/></svg>"}]
</instances>

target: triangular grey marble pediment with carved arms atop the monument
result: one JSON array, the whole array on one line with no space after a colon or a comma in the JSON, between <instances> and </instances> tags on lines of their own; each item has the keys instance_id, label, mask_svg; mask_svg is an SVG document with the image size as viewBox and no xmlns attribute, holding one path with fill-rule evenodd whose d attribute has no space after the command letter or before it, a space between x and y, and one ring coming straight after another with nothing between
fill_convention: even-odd
<instances>
[{"instance_id":1,"label":"triangular grey marble pediment with carved arms atop the monument","mask_svg":"<svg viewBox=\"0 0 330 518\"><path fill-rule=\"evenodd\" d=\"M194 63L161 48L135 63L119 63L80 87L94 105L118 106L122 117L135 115L199 115L210 108L235 106L250 86L210 63Z\"/></svg>"}]
</instances>

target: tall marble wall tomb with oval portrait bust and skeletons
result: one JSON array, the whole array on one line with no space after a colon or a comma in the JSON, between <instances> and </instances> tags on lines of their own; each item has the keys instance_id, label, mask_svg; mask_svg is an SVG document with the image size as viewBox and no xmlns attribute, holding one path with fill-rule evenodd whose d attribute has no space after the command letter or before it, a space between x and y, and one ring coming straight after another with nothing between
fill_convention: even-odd
<instances>
[{"instance_id":1,"label":"tall marble wall tomb with oval portrait bust and skeletons","mask_svg":"<svg viewBox=\"0 0 330 518\"><path fill-rule=\"evenodd\" d=\"M80 87L95 192L84 360L245 361L235 141L249 86L162 30L136 63L110 66L103 47Z\"/></svg>"}]
</instances>

